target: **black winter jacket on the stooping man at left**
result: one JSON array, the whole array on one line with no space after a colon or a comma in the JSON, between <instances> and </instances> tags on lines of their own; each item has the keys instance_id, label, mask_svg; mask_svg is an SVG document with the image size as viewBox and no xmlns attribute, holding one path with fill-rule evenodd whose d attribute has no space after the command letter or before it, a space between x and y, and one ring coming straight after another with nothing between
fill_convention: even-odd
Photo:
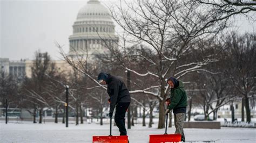
<instances>
[{"instance_id":1,"label":"black winter jacket on the stooping man at left","mask_svg":"<svg viewBox=\"0 0 256 143\"><path fill-rule=\"evenodd\" d=\"M107 94L110 96L110 112L114 111L114 107L118 103L131 102L129 90L126 88L124 82L109 74L107 78Z\"/></svg>"}]
</instances>

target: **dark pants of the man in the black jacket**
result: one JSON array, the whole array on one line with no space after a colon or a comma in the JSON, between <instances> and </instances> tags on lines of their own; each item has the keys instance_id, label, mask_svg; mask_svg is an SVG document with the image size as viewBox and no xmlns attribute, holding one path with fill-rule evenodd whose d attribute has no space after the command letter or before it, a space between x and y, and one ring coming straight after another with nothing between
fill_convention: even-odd
<instances>
[{"instance_id":1,"label":"dark pants of the man in the black jacket","mask_svg":"<svg viewBox=\"0 0 256 143\"><path fill-rule=\"evenodd\" d=\"M114 121L116 122L117 127L119 128L120 135L126 135L126 129L125 129L125 113L130 105L129 103L118 103L116 105L116 114L114 115Z\"/></svg>"}]
</instances>

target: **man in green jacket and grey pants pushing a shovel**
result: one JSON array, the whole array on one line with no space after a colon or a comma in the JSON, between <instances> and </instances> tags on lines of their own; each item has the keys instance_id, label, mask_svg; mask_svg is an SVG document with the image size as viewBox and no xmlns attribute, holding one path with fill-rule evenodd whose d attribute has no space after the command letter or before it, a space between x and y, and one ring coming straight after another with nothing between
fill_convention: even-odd
<instances>
[{"instance_id":1,"label":"man in green jacket and grey pants pushing a shovel","mask_svg":"<svg viewBox=\"0 0 256 143\"><path fill-rule=\"evenodd\" d=\"M167 115L171 110L174 114L175 133L181 134L181 141L185 142L183 124L187 111L187 94L184 90L184 85L174 77L167 79L167 83L171 87L170 104L165 112Z\"/></svg>"}]
</instances>

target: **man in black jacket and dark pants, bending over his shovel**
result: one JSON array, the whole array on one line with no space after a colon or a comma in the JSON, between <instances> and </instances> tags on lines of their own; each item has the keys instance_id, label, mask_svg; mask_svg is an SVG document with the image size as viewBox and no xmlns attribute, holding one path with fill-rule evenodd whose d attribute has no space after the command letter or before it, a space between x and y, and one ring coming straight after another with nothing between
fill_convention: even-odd
<instances>
[{"instance_id":1,"label":"man in black jacket and dark pants, bending over his shovel","mask_svg":"<svg viewBox=\"0 0 256 143\"><path fill-rule=\"evenodd\" d=\"M107 73L100 73L98 75L98 81L99 83L107 84L107 94L110 96L109 117L112 118L114 107L116 106L114 121L119 128L120 135L126 135L124 118L125 112L131 102L129 90L126 88L124 82Z\"/></svg>"}]
</instances>

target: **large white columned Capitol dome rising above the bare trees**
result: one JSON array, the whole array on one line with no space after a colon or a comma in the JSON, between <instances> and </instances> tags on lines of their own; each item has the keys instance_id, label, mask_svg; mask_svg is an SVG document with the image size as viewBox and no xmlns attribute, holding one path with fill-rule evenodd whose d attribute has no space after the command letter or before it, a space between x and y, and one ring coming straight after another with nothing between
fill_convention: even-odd
<instances>
[{"instance_id":1,"label":"large white columned Capitol dome rising above the bare trees","mask_svg":"<svg viewBox=\"0 0 256 143\"><path fill-rule=\"evenodd\" d=\"M69 37L69 56L95 55L117 46L114 23L110 12L98 0L90 0L79 10Z\"/></svg>"}]
</instances>

